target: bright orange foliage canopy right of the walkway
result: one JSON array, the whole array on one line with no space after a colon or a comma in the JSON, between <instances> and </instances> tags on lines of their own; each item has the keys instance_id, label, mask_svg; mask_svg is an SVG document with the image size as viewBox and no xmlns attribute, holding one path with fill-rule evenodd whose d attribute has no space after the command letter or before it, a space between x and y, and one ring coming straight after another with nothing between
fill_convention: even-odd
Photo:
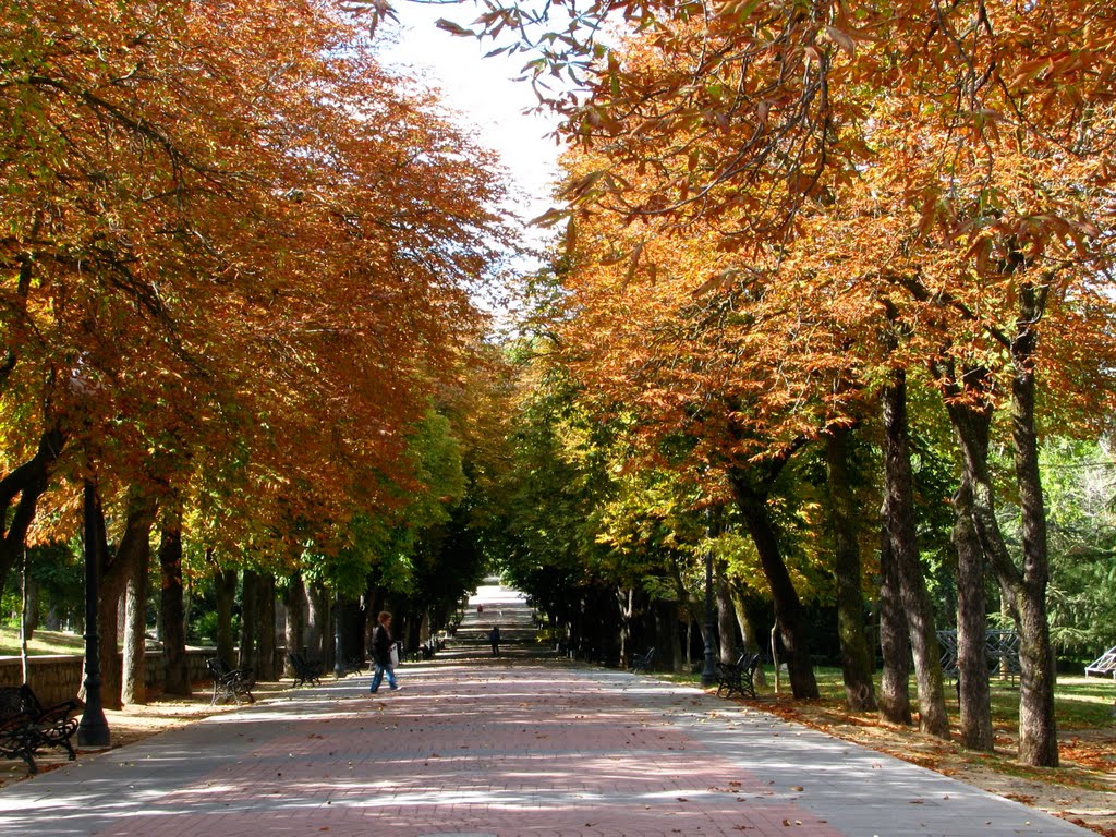
<instances>
[{"instance_id":1,"label":"bright orange foliage canopy right of the walkway","mask_svg":"<svg viewBox=\"0 0 1116 837\"><path fill-rule=\"evenodd\" d=\"M653 25L571 112L568 335L591 379L759 455L853 420L893 365L1008 371L1040 289L1040 379L1112 413L1107 12L639 8Z\"/></svg>"}]
</instances>

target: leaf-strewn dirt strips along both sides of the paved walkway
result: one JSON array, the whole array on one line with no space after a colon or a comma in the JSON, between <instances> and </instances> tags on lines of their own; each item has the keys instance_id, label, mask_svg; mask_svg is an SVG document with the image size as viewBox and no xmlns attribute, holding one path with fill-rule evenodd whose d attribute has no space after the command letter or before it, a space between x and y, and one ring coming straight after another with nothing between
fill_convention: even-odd
<instances>
[{"instance_id":1,"label":"leaf-strewn dirt strips along both sides of the paved walkway","mask_svg":"<svg viewBox=\"0 0 1116 837\"><path fill-rule=\"evenodd\" d=\"M289 687L289 681L259 683L252 693L257 700L266 700ZM155 700L122 711L106 710L113 747L126 747L208 715L237 711L235 705L210 705L210 696L208 691L196 691L189 700ZM994 753L972 753L956 741L941 741L910 728L885 724L875 714L844 713L831 704L769 698L750 705L1116 837L1116 725L1061 732L1061 767L1040 770L1013 761L1016 741L1007 730L997 731ZM65 757L46 754L37 761L40 771L47 771L64 764ZM22 762L0 761L0 787L26 776Z\"/></svg>"}]
</instances>

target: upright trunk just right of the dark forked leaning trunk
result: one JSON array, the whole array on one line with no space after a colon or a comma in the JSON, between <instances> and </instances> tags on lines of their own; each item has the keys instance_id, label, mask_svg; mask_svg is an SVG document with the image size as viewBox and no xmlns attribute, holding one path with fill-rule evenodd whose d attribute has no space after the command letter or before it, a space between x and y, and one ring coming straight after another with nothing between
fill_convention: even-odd
<instances>
[{"instance_id":1,"label":"upright trunk just right of the dark forked leaning trunk","mask_svg":"<svg viewBox=\"0 0 1116 837\"><path fill-rule=\"evenodd\" d=\"M870 712L876 709L876 692L872 682L874 661L865 629L856 503L848 479L850 434L852 431L838 427L826 436L829 525L834 532L837 631L840 635L845 702L853 712Z\"/></svg>"}]
</instances>

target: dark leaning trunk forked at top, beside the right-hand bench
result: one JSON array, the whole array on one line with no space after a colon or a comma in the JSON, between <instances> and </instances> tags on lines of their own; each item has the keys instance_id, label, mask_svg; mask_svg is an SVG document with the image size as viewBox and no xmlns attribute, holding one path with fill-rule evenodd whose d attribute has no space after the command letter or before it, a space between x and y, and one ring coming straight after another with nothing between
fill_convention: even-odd
<instances>
[{"instance_id":1,"label":"dark leaning trunk forked at top, beside the right-hand bench","mask_svg":"<svg viewBox=\"0 0 1116 837\"><path fill-rule=\"evenodd\" d=\"M729 470L729 483L732 485L737 504L748 525L748 531L759 554L763 576L771 589L775 603L775 618L779 626L779 637L782 641L787 667L790 673L790 687L799 700L818 696L818 683L814 676L814 664L810 661L809 639L806 633L806 619L802 614L801 600L791 581L787 564L782 559L779 546L778 527L771 519L767 501L771 485L786 460L769 463L762 473L744 468Z\"/></svg>"}]
</instances>

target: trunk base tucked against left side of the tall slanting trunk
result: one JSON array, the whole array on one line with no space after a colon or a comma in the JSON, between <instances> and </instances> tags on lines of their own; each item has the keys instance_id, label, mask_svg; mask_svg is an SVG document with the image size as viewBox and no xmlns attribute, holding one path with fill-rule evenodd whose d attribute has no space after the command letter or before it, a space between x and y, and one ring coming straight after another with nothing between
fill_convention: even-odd
<instances>
[{"instance_id":1,"label":"trunk base tucked against left side of the tall slanting trunk","mask_svg":"<svg viewBox=\"0 0 1116 837\"><path fill-rule=\"evenodd\" d=\"M884 668L879 677L879 715L891 723L911 724L911 634L899 596L899 573L892 555L892 540L879 538L879 652Z\"/></svg>"}]
</instances>

